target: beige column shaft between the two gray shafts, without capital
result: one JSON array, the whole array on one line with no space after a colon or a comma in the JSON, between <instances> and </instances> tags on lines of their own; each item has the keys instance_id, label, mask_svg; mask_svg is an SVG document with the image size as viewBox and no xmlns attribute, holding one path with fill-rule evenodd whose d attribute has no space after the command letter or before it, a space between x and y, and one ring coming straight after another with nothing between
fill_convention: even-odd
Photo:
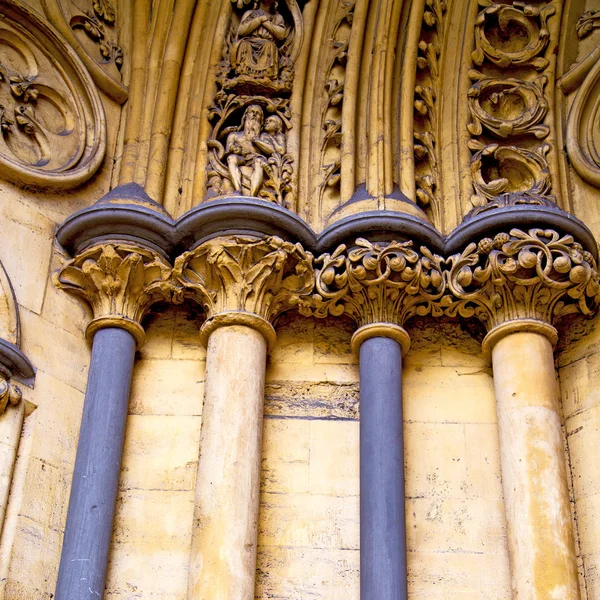
<instances>
[{"instance_id":1,"label":"beige column shaft between the two gray shafts, without capital","mask_svg":"<svg viewBox=\"0 0 600 600\"><path fill-rule=\"evenodd\" d=\"M254 598L266 359L267 342L250 327L209 338L190 600Z\"/></svg>"}]
</instances>

